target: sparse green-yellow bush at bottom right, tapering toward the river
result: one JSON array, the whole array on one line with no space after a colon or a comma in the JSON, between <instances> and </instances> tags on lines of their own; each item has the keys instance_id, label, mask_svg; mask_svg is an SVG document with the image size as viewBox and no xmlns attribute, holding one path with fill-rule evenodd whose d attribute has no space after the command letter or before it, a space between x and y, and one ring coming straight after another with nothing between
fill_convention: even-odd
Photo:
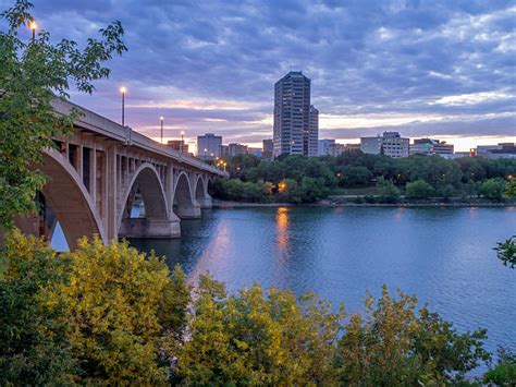
<instances>
[{"instance_id":1,"label":"sparse green-yellow bush at bottom right, tapering toward the river","mask_svg":"<svg viewBox=\"0 0 516 387\"><path fill-rule=\"evenodd\" d=\"M353 315L339 341L336 366L349 386L444 385L490 359L484 330L457 334L416 298L398 293L365 300L366 316Z\"/></svg>"}]
</instances>

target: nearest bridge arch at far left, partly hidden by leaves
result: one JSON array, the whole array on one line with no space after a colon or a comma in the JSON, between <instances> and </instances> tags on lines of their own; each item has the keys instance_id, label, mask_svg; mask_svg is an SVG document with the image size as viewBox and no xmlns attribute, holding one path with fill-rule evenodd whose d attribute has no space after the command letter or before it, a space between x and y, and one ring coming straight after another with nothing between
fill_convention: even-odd
<instances>
[{"instance_id":1,"label":"nearest bridge arch at far left, partly hidden by leaves","mask_svg":"<svg viewBox=\"0 0 516 387\"><path fill-rule=\"evenodd\" d=\"M84 235L97 234L103 243L108 238L100 215L81 177L69 160L54 149L42 152L42 162L38 169L48 177L41 190L46 204L60 222L71 250ZM39 216L19 217L16 226L25 233L39 234ZM51 226L51 228L53 228ZM47 237L51 238L52 230Z\"/></svg>"}]
</instances>

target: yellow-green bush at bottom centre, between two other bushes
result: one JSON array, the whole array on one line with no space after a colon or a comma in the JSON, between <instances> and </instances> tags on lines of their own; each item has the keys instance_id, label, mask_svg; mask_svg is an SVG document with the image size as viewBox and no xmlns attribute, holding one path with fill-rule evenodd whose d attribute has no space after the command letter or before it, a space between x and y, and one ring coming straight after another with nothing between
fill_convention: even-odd
<instances>
[{"instance_id":1,"label":"yellow-green bush at bottom centre, between two other bushes","mask_svg":"<svg viewBox=\"0 0 516 387\"><path fill-rule=\"evenodd\" d=\"M176 382L186 385L332 385L342 313L314 295L258 285L226 297L201 278L191 339L177 347Z\"/></svg>"}]
</instances>

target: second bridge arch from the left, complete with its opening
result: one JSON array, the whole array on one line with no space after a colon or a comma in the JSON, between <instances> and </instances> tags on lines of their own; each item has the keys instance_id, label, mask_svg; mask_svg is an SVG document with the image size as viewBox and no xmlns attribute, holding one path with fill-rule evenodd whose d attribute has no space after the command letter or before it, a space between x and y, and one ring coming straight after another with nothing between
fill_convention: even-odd
<instances>
[{"instance_id":1,"label":"second bridge arch from the left, complete with its opening","mask_svg":"<svg viewBox=\"0 0 516 387\"><path fill-rule=\"evenodd\" d=\"M143 218L131 218L131 196L134 196L136 190L142 193L145 206ZM119 237L175 237L171 227L176 228L172 223L177 222L177 219L172 219L170 215L158 171L149 162L142 164L133 173L122 196L116 222Z\"/></svg>"}]
</instances>

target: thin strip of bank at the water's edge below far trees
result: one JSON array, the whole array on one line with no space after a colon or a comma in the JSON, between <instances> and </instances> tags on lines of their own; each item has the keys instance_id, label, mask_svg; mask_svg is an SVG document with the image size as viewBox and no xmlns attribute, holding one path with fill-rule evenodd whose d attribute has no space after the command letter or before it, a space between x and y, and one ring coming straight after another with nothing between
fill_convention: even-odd
<instances>
[{"instance_id":1,"label":"thin strip of bank at the water's edge below far trees","mask_svg":"<svg viewBox=\"0 0 516 387\"><path fill-rule=\"evenodd\" d=\"M323 199L317 203L246 203L213 199L212 208L230 209L230 208L253 208L253 207L400 207L400 208L417 208L417 207L514 207L516 203L467 203L467 202L447 202L447 203L342 203Z\"/></svg>"}]
</instances>

